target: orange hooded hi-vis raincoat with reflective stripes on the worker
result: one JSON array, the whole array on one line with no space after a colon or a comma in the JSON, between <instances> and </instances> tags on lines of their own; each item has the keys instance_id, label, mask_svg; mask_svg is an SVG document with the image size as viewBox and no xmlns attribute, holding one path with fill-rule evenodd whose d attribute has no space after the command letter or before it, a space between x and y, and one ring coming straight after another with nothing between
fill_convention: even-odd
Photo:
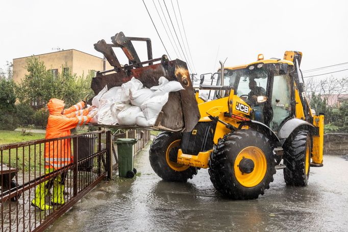
<instances>
[{"instance_id":1,"label":"orange hooded hi-vis raincoat with reflective stripes on the worker","mask_svg":"<svg viewBox=\"0 0 348 232\"><path fill-rule=\"evenodd\" d=\"M91 120L91 117L87 116L88 110L82 110L85 106L84 101L63 111L64 106L64 101L56 98L48 101L49 116L46 126L46 139L69 136L70 129L84 125ZM45 168L60 169L71 162L70 139L45 143Z\"/></svg>"}]
</instances>

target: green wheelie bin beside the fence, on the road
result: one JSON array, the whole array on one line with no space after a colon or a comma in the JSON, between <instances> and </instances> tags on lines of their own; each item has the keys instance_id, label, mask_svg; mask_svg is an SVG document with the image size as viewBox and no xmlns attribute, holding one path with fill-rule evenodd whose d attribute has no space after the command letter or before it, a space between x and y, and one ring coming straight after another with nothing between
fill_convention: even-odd
<instances>
[{"instance_id":1,"label":"green wheelie bin beside the fence, on the road","mask_svg":"<svg viewBox=\"0 0 348 232\"><path fill-rule=\"evenodd\" d=\"M117 139L117 156L118 156L118 175L119 177L132 178L137 173L134 168L133 144L137 139Z\"/></svg>"}]
</instances>

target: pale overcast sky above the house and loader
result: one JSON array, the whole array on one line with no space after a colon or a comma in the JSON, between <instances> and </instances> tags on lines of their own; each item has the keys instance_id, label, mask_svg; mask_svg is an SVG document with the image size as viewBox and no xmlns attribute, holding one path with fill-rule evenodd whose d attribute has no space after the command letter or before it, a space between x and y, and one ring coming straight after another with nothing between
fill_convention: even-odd
<instances>
[{"instance_id":1,"label":"pale overcast sky above the house and loader","mask_svg":"<svg viewBox=\"0 0 348 232\"><path fill-rule=\"evenodd\" d=\"M177 0L171 1L180 20ZM171 1L165 2L181 41ZM254 62L259 53L265 58L283 58L285 50L303 52L302 70L348 62L347 1L178 1L198 74L216 71L218 60L227 57L226 66L233 66ZM162 14L158 0L154 2ZM153 1L145 3L169 56L178 58ZM166 13L163 0L160 3ZM56 47L102 57L93 44L100 39L110 42L120 31L151 38L154 58L166 53L141 0L13 0L2 1L1 8L0 67L14 58L49 53ZM162 20L166 25L163 16ZM168 16L167 20L171 26ZM135 46L145 60L145 44ZM120 61L126 63L123 57ZM310 74L346 68L348 65ZM348 71L334 75L348 75Z\"/></svg>"}]
</instances>

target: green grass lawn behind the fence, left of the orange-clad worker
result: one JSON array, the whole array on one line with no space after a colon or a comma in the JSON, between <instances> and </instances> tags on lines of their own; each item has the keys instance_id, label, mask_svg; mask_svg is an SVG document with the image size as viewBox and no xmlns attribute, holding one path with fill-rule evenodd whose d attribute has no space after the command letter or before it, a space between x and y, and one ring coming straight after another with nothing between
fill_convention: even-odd
<instances>
[{"instance_id":1,"label":"green grass lawn behind the fence, left of the orange-clad worker","mask_svg":"<svg viewBox=\"0 0 348 232\"><path fill-rule=\"evenodd\" d=\"M30 140L44 139L45 134L38 133L25 133L14 132L14 131L0 131L0 145L10 144L10 143L20 143ZM40 152L41 146L41 152ZM30 157L29 157L30 149ZM44 144L20 147L17 149L4 150L1 153L0 163L9 165L11 162L11 167L17 168L19 170L24 169L25 171L33 171L35 168L43 170L44 160L43 160ZM41 167L40 167L41 160ZM23 166L24 164L24 166Z\"/></svg>"}]
</instances>

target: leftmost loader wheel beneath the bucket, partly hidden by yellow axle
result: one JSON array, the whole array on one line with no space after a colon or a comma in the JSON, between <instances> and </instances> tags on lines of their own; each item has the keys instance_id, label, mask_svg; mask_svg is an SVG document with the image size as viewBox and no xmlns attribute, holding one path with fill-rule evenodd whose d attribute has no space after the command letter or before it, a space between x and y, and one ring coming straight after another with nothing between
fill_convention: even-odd
<instances>
[{"instance_id":1,"label":"leftmost loader wheel beneath the bucket, partly hidden by yellow axle","mask_svg":"<svg viewBox=\"0 0 348 232\"><path fill-rule=\"evenodd\" d=\"M178 164L170 160L176 157L181 146L181 134L162 132L154 139L150 148L150 164L164 181L186 182L197 174L197 168Z\"/></svg>"}]
</instances>

